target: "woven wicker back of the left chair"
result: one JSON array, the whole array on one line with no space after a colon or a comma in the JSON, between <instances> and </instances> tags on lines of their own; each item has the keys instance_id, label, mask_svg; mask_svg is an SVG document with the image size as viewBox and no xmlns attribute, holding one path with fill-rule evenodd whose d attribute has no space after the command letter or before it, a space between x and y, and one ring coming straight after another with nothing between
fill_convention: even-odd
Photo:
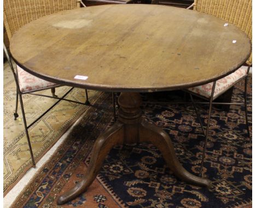
<instances>
[{"instance_id":1,"label":"woven wicker back of the left chair","mask_svg":"<svg viewBox=\"0 0 256 208\"><path fill-rule=\"evenodd\" d=\"M4 0L4 25L9 40L20 27L39 17L80 7L77 0Z\"/></svg>"}]
</instances>

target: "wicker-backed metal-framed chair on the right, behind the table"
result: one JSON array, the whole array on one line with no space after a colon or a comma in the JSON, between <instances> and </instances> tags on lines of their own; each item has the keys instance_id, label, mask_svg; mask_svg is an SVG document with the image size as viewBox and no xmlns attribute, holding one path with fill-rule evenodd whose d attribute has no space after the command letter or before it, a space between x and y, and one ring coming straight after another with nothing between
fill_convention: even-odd
<instances>
[{"instance_id":1,"label":"wicker-backed metal-framed chair on the right, behind the table","mask_svg":"<svg viewBox=\"0 0 256 208\"><path fill-rule=\"evenodd\" d=\"M190 7L191 8L191 7ZM210 14L217 16L221 19L224 19L228 22L234 23L237 27L243 30L248 37L252 40L252 0L195 0L193 4L193 9L202 13ZM207 128L205 134L205 144L203 146L203 154L201 161L200 174L202 173L203 162L205 160L206 148L207 148L207 139L211 119L211 110L213 104L219 104L213 102L220 95L231 89L237 82L240 82L242 79L245 79L245 91L244 91L244 103L222 103L224 105L244 105L245 106L245 117L247 125L247 133L249 134L249 124L248 124L248 113L247 113L247 82L249 69L252 65L252 54L245 63L246 66L242 66L240 69L237 69L234 73L219 79L218 81L204 84L201 86L189 88L188 92L190 94L190 99L193 102L195 107L195 102L192 95L199 96L203 99L210 101L208 119L207 119ZM196 109L196 107L195 107ZM197 113L197 118L199 118L202 125L199 114ZM203 128L202 128L203 129Z\"/></svg>"}]
</instances>

